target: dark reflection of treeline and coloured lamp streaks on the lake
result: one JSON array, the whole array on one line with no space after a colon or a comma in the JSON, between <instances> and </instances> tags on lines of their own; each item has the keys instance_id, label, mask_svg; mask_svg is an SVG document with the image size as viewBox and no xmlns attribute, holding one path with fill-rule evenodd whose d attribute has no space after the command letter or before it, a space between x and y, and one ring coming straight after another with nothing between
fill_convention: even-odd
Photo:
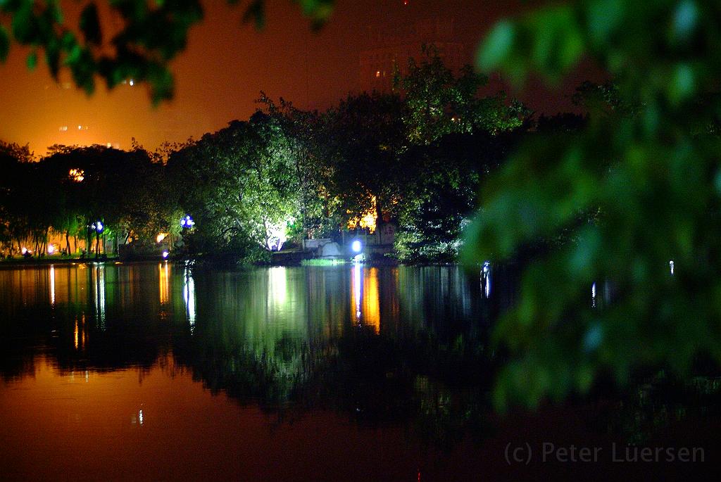
<instances>
[{"instance_id":1,"label":"dark reflection of treeline and coloured lamp streaks on the lake","mask_svg":"<svg viewBox=\"0 0 721 482\"><path fill-rule=\"evenodd\" d=\"M38 282L43 277L49 282ZM449 387L466 380L485 390L492 372L478 282L453 267L5 270L0 328L10 336L0 369L22 380L48 363L87 382L132 367L136 383L156 368L173 377L187 371L211 392L265 411L332 409L362 424L414 420L426 437L447 442L456 429L443 427L479 416L483 399L451 407ZM109 393L131 390L104 380ZM145 411L129 414L144 423ZM448 423L430 423L435 417Z\"/></svg>"}]
</instances>

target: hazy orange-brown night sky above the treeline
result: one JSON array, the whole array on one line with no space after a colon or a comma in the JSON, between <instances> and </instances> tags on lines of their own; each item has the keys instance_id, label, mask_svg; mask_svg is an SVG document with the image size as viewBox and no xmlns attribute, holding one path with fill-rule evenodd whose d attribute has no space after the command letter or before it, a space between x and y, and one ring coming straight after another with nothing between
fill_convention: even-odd
<instances>
[{"instance_id":1,"label":"hazy orange-brown night sky above the treeline","mask_svg":"<svg viewBox=\"0 0 721 482\"><path fill-rule=\"evenodd\" d=\"M87 2L63 1L68 24ZM247 2L240 2L241 5ZM339 0L327 27L311 32L298 8L287 0L267 1L267 25L258 32L241 24L242 8L225 1L205 1L205 19L190 32L187 50L174 61L176 89L172 102L152 107L145 86L119 86L107 92L102 83L92 97L68 78L56 84L43 63L28 71L29 50L13 45L0 65L0 139L30 143L43 155L53 143L107 144L130 148L131 138L149 150L164 140L183 141L247 119L260 91L297 107L324 109L359 90L359 53L370 25L451 17L456 37L472 63L482 35L497 19L518 14L521 1L477 0ZM538 112L570 110L576 73L553 91L532 82L514 92ZM493 79L488 93L503 88Z\"/></svg>"}]
</instances>

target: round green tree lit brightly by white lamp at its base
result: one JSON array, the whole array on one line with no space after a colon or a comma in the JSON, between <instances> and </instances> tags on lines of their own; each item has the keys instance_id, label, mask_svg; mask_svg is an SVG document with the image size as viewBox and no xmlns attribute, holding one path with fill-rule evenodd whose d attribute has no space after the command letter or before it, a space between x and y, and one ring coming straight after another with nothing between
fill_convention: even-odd
<instances>
[{"instance_id":1,"label":"round green tree lit brightly by white lamp at its base","mask_svg":"<svg viewBox=\"0 0 721 482\"><path fill-rule=\"evenodd\" d=\"M195 249L257 259L259 249L282 246L301 204L286 147L278 125L257 112L170 156L169 175L185 190L180 204L196 221Z\"/></svg>"}]
</instances>

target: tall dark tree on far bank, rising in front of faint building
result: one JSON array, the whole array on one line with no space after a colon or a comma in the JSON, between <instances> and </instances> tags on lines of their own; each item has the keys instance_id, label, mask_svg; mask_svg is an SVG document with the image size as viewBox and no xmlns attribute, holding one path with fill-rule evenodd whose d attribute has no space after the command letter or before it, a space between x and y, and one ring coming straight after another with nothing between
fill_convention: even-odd
<instances>
[{"instance_id":1,"label":"tall dark tree on far bank, rising in front of faint building","mask_svg":"<svg viewBox=\"0 0 721 482\"><path fill-rule=\"evenodd\" d=\"M420 63L411 59L407 75L395 79L406 135L395 248L402 261L453 262L480 182L526 130L530 112L520 102L506 104L502 92L480 97L487 78L470 66L456 75L433 46L423 53Z\"/></svg>"}]
</instances>

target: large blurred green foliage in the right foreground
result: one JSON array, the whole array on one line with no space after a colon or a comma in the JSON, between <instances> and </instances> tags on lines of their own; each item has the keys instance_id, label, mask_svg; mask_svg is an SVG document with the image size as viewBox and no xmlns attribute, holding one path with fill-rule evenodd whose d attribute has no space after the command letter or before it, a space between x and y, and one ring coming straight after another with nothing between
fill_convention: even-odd
<instances>
[{"instance_id":1,"label":"large blurred green foliage in the right foreground","mask_svg":"<svg viewBox=\"0 0 721 482\"><path fill-rule=\"evenodd\" d=\"M571 233L523 269L495 329L511 355L499 406L585 393L604 373L623 384L640 367L721 362L719 18L711 1L572 1L498 23L480 48L479 66L519 82L557 81L590 57L619 104L639 106L529 140L482 191L468 262ZM588 210L596 220L579 222ZM606 282L611 302L594 307Z\"/></svg>"}]
</instances>

